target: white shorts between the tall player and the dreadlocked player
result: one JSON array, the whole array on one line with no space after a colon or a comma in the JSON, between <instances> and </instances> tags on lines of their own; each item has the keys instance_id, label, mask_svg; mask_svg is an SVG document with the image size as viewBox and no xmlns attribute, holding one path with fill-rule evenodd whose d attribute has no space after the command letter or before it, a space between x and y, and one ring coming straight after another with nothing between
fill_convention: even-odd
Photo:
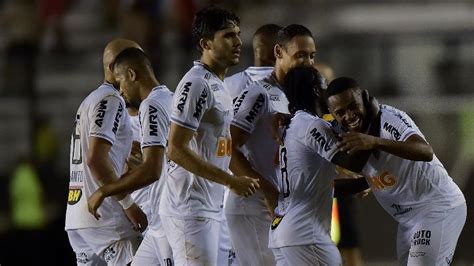
<instances>
[{"instance_id":1,"label":"white shorts between the tall player and the dreadlocked player","mask_svg":"<svg viewBox=\"0 0 474 266\"><path fill-rule=\"evenodd\" d=\"M226 218L240 265L275 265L272 250L268 248L268 230L272 223L269 215L226 214Z\"/></svg>"}]
</instances>

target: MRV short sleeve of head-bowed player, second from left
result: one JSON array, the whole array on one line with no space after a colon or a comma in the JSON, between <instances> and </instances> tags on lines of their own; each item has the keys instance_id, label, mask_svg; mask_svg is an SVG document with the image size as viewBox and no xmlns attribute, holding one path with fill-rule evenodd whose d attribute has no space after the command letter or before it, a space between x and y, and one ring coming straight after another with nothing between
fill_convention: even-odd
<instances>
[{"instance_id":1,"label":"MRV short sleeve of head-bowed player, second from left","mask_svg":"<svg viewBox=\"0 0 474 266\"><path fill-rule=\"evenodd\" d=\"M165 109L152 101L140 105L140 124L142 129L141 147L166 147L170 118Z\"/></svg>"}]
</instances>

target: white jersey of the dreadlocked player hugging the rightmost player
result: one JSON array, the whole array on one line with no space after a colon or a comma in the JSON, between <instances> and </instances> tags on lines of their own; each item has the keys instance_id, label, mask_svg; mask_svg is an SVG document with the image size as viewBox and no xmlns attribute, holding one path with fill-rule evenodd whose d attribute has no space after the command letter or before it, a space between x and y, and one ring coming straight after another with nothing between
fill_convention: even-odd
<instances>
[{"instance_id":1,"label":"white jersey of the dreadlocked player hugging the rightmost player","mask_svg":"<svg viewBox=\"0 0 474 266\"><path fill-rule=\"evenodd\" d=\"M337 139L331 124L296 112L280 147L280 195L270 248L332 244L331 208Z\"/></svg>"}]
</instances>

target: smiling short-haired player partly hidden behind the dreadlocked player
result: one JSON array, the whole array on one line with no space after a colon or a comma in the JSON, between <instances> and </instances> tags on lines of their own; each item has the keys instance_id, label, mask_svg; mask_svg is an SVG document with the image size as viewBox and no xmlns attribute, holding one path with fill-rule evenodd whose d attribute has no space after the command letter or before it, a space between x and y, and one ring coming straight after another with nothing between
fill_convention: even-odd
<instances>
[{"instance_id":1,"label":"smiling short-haired player partly hidden behind the dreadlocked player","mask_svg":"<svg viewBox=\"0 0 474 266\"><path fill-rule=\"evenodd\" d=\"M302 25L289 25L278 32L275 69L266 78L252 83L234 101L231 125L234 174L258 178L262 190L252 197L230 194L225 213L233 247L242 265L274 265L268 248L268 225L277 200L274 158L278 143L271 137L272 113L288 113L288 101L281 84L288 70L297 65L311 66L316 55L312 33Z\"/></svg>"}]
</instances>

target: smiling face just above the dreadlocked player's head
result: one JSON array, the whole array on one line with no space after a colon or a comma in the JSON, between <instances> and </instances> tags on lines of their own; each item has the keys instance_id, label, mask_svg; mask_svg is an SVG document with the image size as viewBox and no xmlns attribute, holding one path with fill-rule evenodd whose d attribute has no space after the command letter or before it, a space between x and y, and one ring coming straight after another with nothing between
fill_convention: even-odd
<instances>
[{"instance_id":1,"label":"smiling face just above the dreadlocked player's head","mask_svg":"<svg viewBox=\"0 0 474 266\"><path fill-rule=\"evenodd\" d=\"M316 57L316 45L310 36L295 36L281 47L280 67L284 73L296 66L311 66Z\"/></svg>"}]
</instances>

